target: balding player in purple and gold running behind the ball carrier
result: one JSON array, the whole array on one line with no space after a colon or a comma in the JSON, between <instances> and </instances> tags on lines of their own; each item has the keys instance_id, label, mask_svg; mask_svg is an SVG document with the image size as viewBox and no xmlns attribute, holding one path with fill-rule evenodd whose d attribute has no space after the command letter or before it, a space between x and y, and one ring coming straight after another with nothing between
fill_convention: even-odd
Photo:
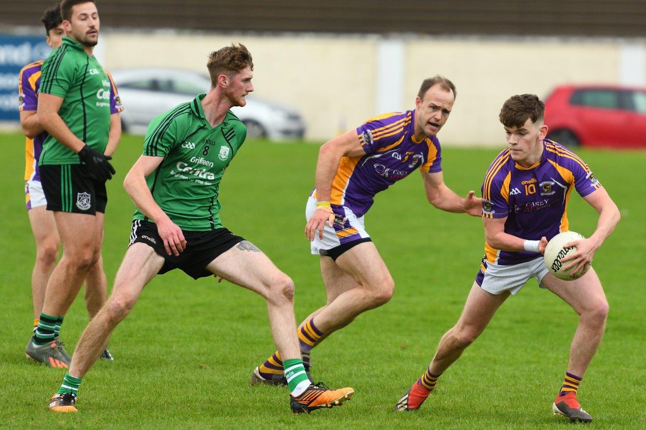
<instances>
[{"instance_id":1,"label":"balding player in purple and gold running behind the ball carrier","mask_svg":"<svg viewBox=\"0 0 646 430\"><path fill-rule=\"evenodd\" d=\"M415 109L369 119L320 148L316 188L307 201L305 234L312 241L312 254L320 256L328 303L298 327L306 369L313 347L360 313L388 302L395 289L364 229L364 214L375 194L420 170L426 198L433 206L480 216L480 199L473 191L461 198L444 184L436 135L454 101L451 81L441 76L425 79ZM251 384L284 384L284 368L283 357L276 351L256 367Z\"/></svg>"}]
</instances>

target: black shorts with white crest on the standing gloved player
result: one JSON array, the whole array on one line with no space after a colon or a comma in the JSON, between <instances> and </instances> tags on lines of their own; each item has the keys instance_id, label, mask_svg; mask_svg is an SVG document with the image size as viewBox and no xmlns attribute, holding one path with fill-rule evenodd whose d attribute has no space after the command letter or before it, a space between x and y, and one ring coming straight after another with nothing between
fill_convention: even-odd
<instances>
[{"instance_id":1,"label":"black shorts with white crest on the standing gloved player","mask_svg":"<svg viewBox=\"0 0 646 430\"><path fill-rule=\"evenodd\" d=\"M47 210L94 215L105 213L108 193L105 182L97 181L81 164L39 166Z\"/></svg>"}]
</instances>

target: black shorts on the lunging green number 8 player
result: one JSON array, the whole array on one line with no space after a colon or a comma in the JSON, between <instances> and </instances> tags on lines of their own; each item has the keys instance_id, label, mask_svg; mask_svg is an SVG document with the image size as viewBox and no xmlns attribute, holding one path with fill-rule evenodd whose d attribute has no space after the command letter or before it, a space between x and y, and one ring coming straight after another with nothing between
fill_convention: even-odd
<instances>
[{"instance_id":1,"label":"black shorts on the lunging green number 8 player","mask_svg":"<svg viewBox=\"0 0 646 430\"><path fill-rule=\"evenodd\" d=\"M134 220L128 246L133 243L145 243L162 256L165 261L158 274L164 274L172 269L182 269L191 278L198 279L213 275L205 267L220 254L229 251L244 240L224 227L209 231L182 230L182 233L186 240L186 248L179 256L169 255L157 232L157 225L151 221Z\"/></svg>"}]
</instances>

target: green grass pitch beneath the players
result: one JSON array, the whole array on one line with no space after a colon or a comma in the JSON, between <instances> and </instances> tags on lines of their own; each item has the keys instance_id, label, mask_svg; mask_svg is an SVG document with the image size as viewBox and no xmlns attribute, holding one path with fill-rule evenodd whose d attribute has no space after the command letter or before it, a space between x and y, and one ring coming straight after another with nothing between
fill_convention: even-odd
<instances>
[{"instance_id":1,"label":"green grass pitch beneath the players","mask_svg":"<svg viewBox=\"0 0 646 430\"><path fill-rule=\"evenodd\" d=\"M110 340L113 363L98 362L79 395L80 412L54 415L46 403L63 376L27 362L34 244L23 205L24 140L0 135L0 380L7 427L554 427L550 407L567 365L577 316L533 280L510 298L490 327L449 369L417 413L395 414L395 401L424 371L441 335L459 316L483 255L481 222L436 210L417 174L377 196L366 229L397 285L390 303L366 312L315 349L315 377L355 387L344 407L289 413L287 391L249 387L253 367L274 347L259 296L213 278L158 276ZM298 318L324 303L318 259L303 236L317 145L249 141L227 170L222 220L260 247L296 283ZM124 136L109 182L103 257L111 283L129 240L132 203L123 176L141 152ZM444 178L459 194L479 190L497 150L444 148ZM645 152L579 151L623 218L595 258L610 302L607 333L579 398L592 427L645 427L646 329L642 262ZM571 200L572 230L589 235L596 212ZM641 209L640 209L641 208ZM73 351L87 313L81 295L63 324Z\"/></svg>"}]
</instances>

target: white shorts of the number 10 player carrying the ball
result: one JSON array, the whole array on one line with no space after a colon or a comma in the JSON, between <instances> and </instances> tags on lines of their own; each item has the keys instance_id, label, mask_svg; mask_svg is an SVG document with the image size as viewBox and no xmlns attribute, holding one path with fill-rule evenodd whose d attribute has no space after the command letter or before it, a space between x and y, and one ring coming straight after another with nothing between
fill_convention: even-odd
<instances>
[{"instance_id":1,"label":"white shorts of the number 10 player carrying the ball","mask_svg":"<svg viewBox=\"0 0 646 430\"><path fill-rule=\"evenodd\" d=\"M543 276L547 272L548 269L542 256L534 258L532 261L509 266L491 263L483 259L480 271L475 277L475 282L483 290L492 294L509 291L516 295L529 278L536 278L539 287L547 288L543 285Z\"/></svg>"}]
</instances>

